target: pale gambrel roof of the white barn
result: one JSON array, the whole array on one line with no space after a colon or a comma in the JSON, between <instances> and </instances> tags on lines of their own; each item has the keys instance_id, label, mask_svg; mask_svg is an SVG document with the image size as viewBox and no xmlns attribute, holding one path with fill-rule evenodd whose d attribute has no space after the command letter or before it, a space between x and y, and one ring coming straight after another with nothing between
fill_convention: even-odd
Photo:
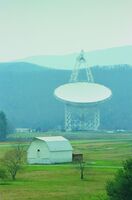
<instances>
[{"instance_id":1,"label":"pale gambrel roof of the white barn","mask_svg":"<svg viewBox=\"0 0 132 200\"><path fill-rule=\"evenodd\" d=\"M50 151L72 150L70 142L62 136L36 137L36 139L46 142Z\"/></svg>"}]
</instances>

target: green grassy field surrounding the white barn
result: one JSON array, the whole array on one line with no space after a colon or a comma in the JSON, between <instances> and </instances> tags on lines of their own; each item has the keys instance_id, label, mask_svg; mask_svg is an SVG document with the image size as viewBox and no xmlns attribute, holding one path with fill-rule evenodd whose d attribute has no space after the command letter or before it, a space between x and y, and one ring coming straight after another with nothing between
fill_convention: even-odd
<instances>
[{"instance_id":1,"label":"green grassy field surrounding the white barn","mask_svg":"<svg viewBox=\"0 0 132 200\"><path fill-rule=\"evenodd\" d=\"M75 164L26 165L16 181L1 183L0 200L101 200L106 181L113 177L123 160L132 157L131 137L121 138L71 141L74 152L84 154L83 181ZM13 144L0 143L0 157Z\"/></svg>"}]
</instances>

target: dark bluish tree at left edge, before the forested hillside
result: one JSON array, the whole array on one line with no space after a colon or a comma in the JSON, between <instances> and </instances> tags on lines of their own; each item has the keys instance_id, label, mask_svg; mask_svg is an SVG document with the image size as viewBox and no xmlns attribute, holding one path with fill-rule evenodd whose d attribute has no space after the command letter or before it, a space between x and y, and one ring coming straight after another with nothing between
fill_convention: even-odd
<instances>
[{"instance_id":1,"label":"dark bluish tree at left edge, before the forested hillside","mask_svg":"<svg viewBox=\"0 0 132 200\"><path fill-rule=\"evenodd\" d=\"M7 134L7 119L4 112L0 111L0 139L4 140Z\"/></svg>"}]
</instances>

